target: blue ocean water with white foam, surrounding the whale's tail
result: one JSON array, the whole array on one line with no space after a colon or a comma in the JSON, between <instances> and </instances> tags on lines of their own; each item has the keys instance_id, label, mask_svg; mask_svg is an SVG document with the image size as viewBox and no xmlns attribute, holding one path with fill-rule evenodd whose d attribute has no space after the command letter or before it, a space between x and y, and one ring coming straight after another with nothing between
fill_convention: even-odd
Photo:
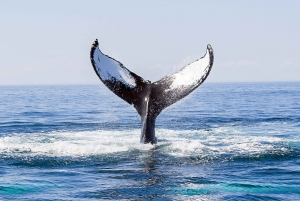
<instances>
[{"instance_id":1,"label":"blue ocean water with white foam, surrounding the whale's tail","mask_svg":"<svg viewBox=\"0 0 300 201\"><path fill-rule=\"evenodd\" d=\"M300 200L300 83L205 83L157 145L94 86L0 87L0 200Z\"/></svg>"}]
</instances>

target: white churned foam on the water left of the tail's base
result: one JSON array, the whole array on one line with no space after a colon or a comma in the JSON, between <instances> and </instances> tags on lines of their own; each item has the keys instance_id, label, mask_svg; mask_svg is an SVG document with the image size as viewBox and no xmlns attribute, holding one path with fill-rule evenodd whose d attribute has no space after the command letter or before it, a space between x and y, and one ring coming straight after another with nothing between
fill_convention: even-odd
<instances>
[{"instance_id":1,"label":"white churned foam on the water left of the tail's base","mask_svg":"<svg viewBox=\"0 0 300 201\"><path fill-rule=\"evenodd\" d=\"M139 144L139 133L136 132L137 130L14 134L0 138L0 153L90 156L153 147Z\"/></svg>"}]
</instances>

